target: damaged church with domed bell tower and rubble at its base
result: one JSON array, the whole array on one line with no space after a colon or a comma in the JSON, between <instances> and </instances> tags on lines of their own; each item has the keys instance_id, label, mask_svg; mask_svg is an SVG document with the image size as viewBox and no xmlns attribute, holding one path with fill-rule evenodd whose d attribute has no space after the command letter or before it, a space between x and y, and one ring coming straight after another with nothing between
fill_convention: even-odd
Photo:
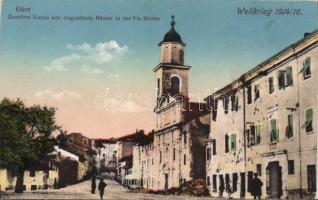
<instances>
[{"instance_id":1,"label":"damaged church with domed bell tower and rubble at its base","mask_svg":"<svg viewBox=\"0 0 318 200\"><path fill-rule=\"evenodd\" d=\"M185 43L171 29L159 43L160 63L154 68L157 104L153 143L142 147L143 187L167 190L205 178L205 145L209 113L205 103L190 102ZM196 156L194 156L196 155Z\"/></svg>"}]
</instances>

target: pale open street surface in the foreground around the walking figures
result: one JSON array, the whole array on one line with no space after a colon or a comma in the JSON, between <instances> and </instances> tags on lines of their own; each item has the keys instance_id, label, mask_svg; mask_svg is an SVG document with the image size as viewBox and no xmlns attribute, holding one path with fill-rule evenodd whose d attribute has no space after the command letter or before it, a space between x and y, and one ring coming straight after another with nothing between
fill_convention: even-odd
<instances>
[{"instance_id":1,"label":"pale open street surface in the foreground around the walking figures","mask_svg":"<svg viewBox=\"0 0 318 200\"><path fill-rule=\"evenodd\" d=\"M174 196L174 195L154 195L131 192L128 189L122 187L113 180L106 180L107 187L105 190L104 199L129 199L129 200L207 200L212 198L196 198L187 196ZM98 182L97 182L98 184ZM76 185L71 185L66 188L57 190L37 190L32 192L24 192L23 194L15 193L0 193L0 199L99 199L98 192L96 194L90 193L91 182L84 181Z\"/></svg>"}]
</instances>

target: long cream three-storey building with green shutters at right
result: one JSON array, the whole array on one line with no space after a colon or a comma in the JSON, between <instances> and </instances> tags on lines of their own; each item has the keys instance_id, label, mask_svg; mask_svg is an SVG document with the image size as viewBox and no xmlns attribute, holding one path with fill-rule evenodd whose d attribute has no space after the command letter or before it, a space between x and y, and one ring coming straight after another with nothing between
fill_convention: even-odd
<instances>
[{"instance_id":1,"label":"long cream three-storey building with green shutters at right","mask_svg":"<svg viewBox=\"0 0 318 200\"><path fill-rule=\"evenodd\" d=\"M213 197L250 198L255 173L263 198L313 197L317 46L318 31L305 34L207 98L213 108L206 148L212 152L207 182Z\"/></svg>"}]
</instances>

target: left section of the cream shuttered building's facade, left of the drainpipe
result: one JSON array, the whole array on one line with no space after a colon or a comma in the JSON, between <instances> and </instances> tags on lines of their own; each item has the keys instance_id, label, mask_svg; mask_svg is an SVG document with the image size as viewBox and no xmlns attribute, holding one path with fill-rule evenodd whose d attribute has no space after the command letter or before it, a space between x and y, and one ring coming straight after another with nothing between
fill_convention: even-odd
<instances>
[{"instance_id":1,"label":"left section of the cream shuttered building's facade, left of the drainpipe","mask_svg":"<svg viewBox=\"0 0 318 200\"><path fill-rule=\"evenodd\" d=\"M221 193L224 193L224 197L244 197L246 186L245 140L242 134L243 92L232 86L224 87L216 91L212 97L213 99L209 99L213 100L213 112L206 148L206 183L213 197L218 197ZM229 184L230 181L233 184Z\"/></svg>"}]
</instances>

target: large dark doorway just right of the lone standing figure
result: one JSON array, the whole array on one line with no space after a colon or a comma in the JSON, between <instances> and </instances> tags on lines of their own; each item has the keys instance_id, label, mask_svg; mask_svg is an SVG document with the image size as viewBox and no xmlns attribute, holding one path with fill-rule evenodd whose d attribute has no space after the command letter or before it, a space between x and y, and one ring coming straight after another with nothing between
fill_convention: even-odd
<instances>
[{"instance_id":1,"label":"large dark doorway just right of the lone standing figure","mask_svg":"<svg viewBox=\"0 0 318 200\"><path fill-rule=\"evenodd\" d=\"M270 162L266 167L266 192L270 198L279 199L283 194L282 167L279 162Z\"/></svg>"}]
</instances>

